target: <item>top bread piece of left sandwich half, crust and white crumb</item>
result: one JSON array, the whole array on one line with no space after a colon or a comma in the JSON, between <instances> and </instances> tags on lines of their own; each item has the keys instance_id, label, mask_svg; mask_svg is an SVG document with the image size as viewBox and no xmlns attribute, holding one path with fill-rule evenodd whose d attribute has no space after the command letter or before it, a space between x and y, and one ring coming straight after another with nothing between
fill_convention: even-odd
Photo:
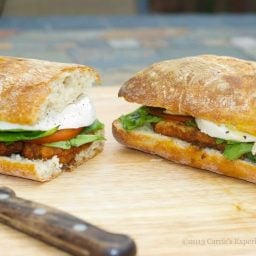
<instances>
[{"instance_id":1,"label":"top bread piece of left sandwich half, crust and white crumb","mask_svg":"<svg viewBox=\"0 0 256 256\"><path fill-rule=\"evenodd\" d=\"M87 66L0 56L0 121L34 124L95 81L99 75Z\"/></svg>"}]
</instances>

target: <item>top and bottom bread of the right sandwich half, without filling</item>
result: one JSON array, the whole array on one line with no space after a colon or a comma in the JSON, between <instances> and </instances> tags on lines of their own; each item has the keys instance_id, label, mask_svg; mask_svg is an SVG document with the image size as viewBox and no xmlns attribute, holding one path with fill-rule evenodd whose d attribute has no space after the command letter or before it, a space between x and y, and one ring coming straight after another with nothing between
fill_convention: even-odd
<instances>
[{"instance_id":1,"label":"top and bottom bread of the right sandwich half, without filling","mask_svg":"<svg viewBox=\"0 0 256 256\"><path fill-rule=\"evenodd\" d=\"M225 124L255 136L254 88L255 62L202 55L153 64L125 82L118 96L129 102L161 108L172 115ZM180 135L166 136L154 129L152 125L151 130L143 127L125 130L120 119L112 125L117 141L130 148L256 183L256 164L249 159L229 160L216 145L215 149L202 143L196 145L178 138Z\"/></svg>"}]
</instances>

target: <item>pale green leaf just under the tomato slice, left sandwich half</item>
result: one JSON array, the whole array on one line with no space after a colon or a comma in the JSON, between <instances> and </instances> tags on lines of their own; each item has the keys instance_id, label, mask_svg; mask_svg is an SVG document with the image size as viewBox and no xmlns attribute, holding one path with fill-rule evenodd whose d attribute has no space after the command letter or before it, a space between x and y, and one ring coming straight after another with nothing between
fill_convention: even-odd
<instances>
[{"instance_id":1,"label":"pale green leaf just under the tomato slice, left sandwich half","mask_svg":"<svg viewBox=\"0 0 256 256\"><path fill-rule=\"evenodd\" d=\"M79 134L75 138L67 141L58 141L53 143L47 143L44 145L54 148L70 149L72 147L80 147L81 145L97 140L104 140L104 137L97 134Z\"/></svg>"}]
</instances>

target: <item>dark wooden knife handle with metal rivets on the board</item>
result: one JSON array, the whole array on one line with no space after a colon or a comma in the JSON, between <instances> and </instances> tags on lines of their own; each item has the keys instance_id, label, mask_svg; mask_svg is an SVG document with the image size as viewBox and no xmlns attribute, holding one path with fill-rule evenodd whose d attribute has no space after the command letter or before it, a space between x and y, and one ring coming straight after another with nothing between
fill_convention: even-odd
<instances>
[{"instance_id":1,"label":"dark wooden knife handle with metal rivets on the board","mask_svg":"<svg viewBox=\"0 0 256 256\"><path fill-rule=\"evenodd\" d=\"M68 213L16 197L0 187L0 222L60 248L72 255L133 256L134 241L112 234Z\"/></svg>"}]
</instances>

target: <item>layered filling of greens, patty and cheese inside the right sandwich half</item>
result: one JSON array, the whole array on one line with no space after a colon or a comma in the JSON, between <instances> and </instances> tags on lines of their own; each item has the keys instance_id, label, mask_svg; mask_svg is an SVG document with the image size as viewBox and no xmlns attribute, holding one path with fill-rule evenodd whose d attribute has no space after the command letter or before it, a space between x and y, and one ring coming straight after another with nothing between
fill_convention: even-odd
<instances>
[{"instance_id":1,"label":"layered filling of greens, patty and cheese inside the right sandwich half","mask_svg":"<svg viewBox=\"0 0 256 256\"><path fill-rule=\"evenodd\" d=\"M145 126L158 134L175 137L200 148L216 149L229 160L256 162L256 137L234 127L146 106L121 116L119 120L128 132Z\"/></svg>"}]
</instances>

